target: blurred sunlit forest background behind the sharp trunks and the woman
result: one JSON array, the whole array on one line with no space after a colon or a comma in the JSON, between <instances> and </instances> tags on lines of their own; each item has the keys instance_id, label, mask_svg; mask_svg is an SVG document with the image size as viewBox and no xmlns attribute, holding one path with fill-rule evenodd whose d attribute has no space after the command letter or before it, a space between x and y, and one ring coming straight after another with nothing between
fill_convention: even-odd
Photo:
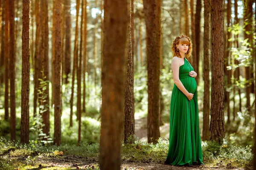
<instances>
[{"instance_id":1,"label":"blurred sunlit forest background behind the sharp trunks and the woman","mask_svg":"<svg viewBox=\"0 0 256 170\"><path fill-rule=\"evenodd\" d=\"M0 0L0 136L20 141L23 4L22 0L6 2L9 1ZM55 10L53 10L55 2L55 0L30 0L29 142L53 143L55 92L52 87L56 83L54 76L57 67L54 62L55 43L57 43L54 33L58 30L61 33L59 39L61 48L57 52L60 52L62 58L59 60L62 65L61 144L77 144L79 140L99 143L104 2L63 0L61 27L55 26L58 22L55 20ZM210 1L206 2L210 3ZM84 13L83 6L86 7ZM136 139L147 141L148 86L143 0L134 0L132 7L135 136ZM231 143L246 146L253 144L255 121L253 114L255 2L226 0L223 7L225 136ZM191 37L193 43L193 53L189 61L198 73L198 108L201 136L203 136L204 84L211 82L211 60L209 59L208 66L204 65L204 23L205 20L208 20L208 24L210 21L210 12L207 13L208 17L204 17L204 2L201 0L162 0L161 2L159 111L160 136L163 139L169 138L169 105L174 85L171 71L173 57L171 44L180 34ZM210 32L207 35L210 38ZM211 45L211 41L208 42ZM81 51L82 48L86 50ZM210 54L211 48L208 57ZM44 67L44 71L41 71L41 67ZM206 67L209 74L208 79L206 77L204 81ZM79 79L77 75L80 76ZM80 111L78 107L81 108ZM46 112L49 118L43 116ZM78 112L81 113L81 139L78 136ZM44 125L47 119L49 122ZM12 130L15 131L15 136L11 135L14 134Z\"/></svg>"}]
</instances>

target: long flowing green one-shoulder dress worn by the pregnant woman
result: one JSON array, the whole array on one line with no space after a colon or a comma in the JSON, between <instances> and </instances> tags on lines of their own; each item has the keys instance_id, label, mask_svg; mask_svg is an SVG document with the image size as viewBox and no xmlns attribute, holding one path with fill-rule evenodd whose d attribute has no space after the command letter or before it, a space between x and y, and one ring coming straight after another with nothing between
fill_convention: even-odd
<instances>
[{"instance_id":1,"label":"long flowing green one-shoulder dress worn by the pregnant woman","mask_svg":"<svg viewBox=\"0 0 256 170\"><path fill-rule=\"evenodd\" d=\"M171 165L204 164L198 122L197 85L194 71L187 59L180 66L179 78L186 90L194 94L192 100L174 85L170 106L169 151L165 163Z\"/></svg>"}]
</instances>

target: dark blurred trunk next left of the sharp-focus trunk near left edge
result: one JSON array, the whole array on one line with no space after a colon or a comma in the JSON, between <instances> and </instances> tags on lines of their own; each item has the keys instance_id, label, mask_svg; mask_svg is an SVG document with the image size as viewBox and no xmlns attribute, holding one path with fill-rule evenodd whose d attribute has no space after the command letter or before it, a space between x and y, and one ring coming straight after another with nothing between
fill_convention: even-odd
<instances>
[{"instance_id":1,"label":"dark blurred trunk next left of the sharp-focus trunk near left edge","mask_svg":"<svg viewBox=\"0 0 256 170\"><path fill-rule=\"evenodd\" d=\"M10 54L9 54L9 68L10 68L10 124L11 124L11 140L16 141L16 105L15 105L15 5L13 0L9 0L9 21L10 21Z\"/></svg>"}]
</instances>

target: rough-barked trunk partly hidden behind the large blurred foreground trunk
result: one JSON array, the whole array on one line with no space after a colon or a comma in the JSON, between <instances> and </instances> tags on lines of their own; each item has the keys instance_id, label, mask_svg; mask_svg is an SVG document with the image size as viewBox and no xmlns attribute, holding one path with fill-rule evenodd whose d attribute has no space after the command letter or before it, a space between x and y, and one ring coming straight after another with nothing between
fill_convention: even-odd
<instances>
[{"instance_id":1,"label":"rough-barked trunk partly hidden behind the large blurred foreground trunk","mask_svg":"<svg viewBox=\"0 0 256 170\"><path fill-rule=\"evenodd\" d=\"M131 44L131 0L130 0L130 24L128 34L128 45L127 45L127 58L126 58L126 71L125 71L125 143L134 142L134 85L133 85L133 57L132 57L132 44Z\"/></svg>"}]
</instances>

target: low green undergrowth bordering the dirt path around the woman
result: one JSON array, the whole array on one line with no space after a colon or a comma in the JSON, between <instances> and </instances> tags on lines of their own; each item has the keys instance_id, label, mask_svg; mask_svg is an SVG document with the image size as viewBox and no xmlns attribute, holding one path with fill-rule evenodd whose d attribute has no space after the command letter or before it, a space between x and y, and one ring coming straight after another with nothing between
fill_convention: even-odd
<instances>
[{"instance_id":1,"label":"low green undergrowth bordering the dirt path around the woman","mask_svg":"<svg viewBox=\"0 0 256 170\"><path fill-rule=\"evenodd\" d=\"M122 143L122 161L163 164L168 149L169 140L167 139L159 139L157 144L148 144L141 141L136 141L133 144ZM202 151L204 164L211 167L250 167L253 163L251 145L238 146L224 139L221 145L212 141L202 142ZM9 162L10 158L18 158L24 166L28 166L35 162L33 159L37 157L41 157L41 159L52 157L61 159L65 156L89 157L96 161L96 158L99 157L99 144L81 143L79 146L64 144L57 147L55 145L41 146L13 143L0 138L0 169L12 169L14 165Z\"/></svg>"}]
</instances>

